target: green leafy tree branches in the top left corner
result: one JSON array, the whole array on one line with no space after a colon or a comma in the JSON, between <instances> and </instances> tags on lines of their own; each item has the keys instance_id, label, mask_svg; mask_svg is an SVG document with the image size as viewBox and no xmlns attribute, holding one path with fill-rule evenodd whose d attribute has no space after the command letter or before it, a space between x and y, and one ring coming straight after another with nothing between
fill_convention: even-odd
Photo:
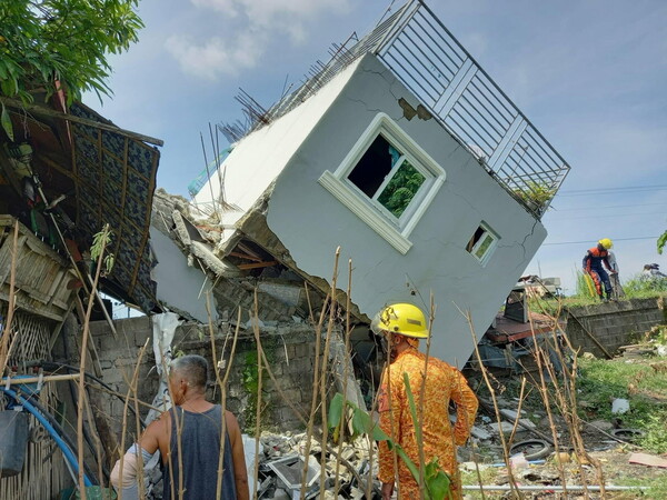
<instances>
[{"instance_id":1,"label":"green leafy tree branches in the top left corner","mask_svg":"<svg viewBox=\"0 0 667 500\"><path fill-rule=\"evenodd\" d=\"M30 103L62 89L71 103L84 91L111 94L107 57L138 40L138 2L1 0L0 97Z\"/></svg>"}]
</instances>

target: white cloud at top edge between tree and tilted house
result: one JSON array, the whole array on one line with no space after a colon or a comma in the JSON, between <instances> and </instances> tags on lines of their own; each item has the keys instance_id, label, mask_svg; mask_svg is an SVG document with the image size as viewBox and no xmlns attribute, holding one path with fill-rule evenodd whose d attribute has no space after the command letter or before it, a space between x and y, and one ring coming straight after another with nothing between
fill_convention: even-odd
<instances>
[{"instance_id":1,"label":"white cloud at top edge between tree and tilted house","mask_svg":"<svg viewBox=\"0 0 667 500\"><path fill-rule=\"evenodd\" d=\"M172 34L165 47L185 72L208 80L257 67L267 50L283 43L285 37L295 46L305 43L309 23L350 8L350 0L191 0L191 3L201 10L207 22L191 23L197 31ZM202 28L206 26L216 26L216 32L208 33Z\"/></svg>"}]
</instances>

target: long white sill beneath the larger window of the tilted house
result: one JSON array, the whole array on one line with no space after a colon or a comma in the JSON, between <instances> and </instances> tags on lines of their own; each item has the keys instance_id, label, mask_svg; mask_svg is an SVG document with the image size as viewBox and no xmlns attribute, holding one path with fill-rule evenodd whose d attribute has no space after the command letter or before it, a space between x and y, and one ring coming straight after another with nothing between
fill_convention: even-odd
<instances>
[{"instance_id":1,"label":"long white sill beneath the larger window of the tilted house","mask_svg":"<svg viewBox=\"0 0 667 500\"><path fill-rule=\"evenodd\" d=\"M338 179L328 170L322 173L318 182L334 197L345 204L352 213L366 222L374 231L381 236L389 244L398 250L404 256L412 247L408 240L395 226L387 219L369 207L366 202L348 187L344 181Z\"/></svg>"}]
</instances>

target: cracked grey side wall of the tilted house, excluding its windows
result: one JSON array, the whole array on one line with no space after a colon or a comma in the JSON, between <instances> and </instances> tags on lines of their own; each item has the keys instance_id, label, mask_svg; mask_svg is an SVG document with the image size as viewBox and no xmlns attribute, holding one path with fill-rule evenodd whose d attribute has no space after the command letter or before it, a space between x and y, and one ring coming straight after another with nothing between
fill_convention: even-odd
<instances>
[{"instance_id":1,"label":"cracked grey side wall of the tilted house, excluding its windows","mask_svg":"<svg viewBox=\"0 0 667 500\"><path fill-rule=\"evenodd\" d=\"M409 104L409 106L408 106ZM388 302L437 304L431 352L462 366L546 238L542 224L517 203L374 56L354 67L327 112L276 179L267 222L305 272L330 279L341 247L354 261L351 298L372 314ZM379 112L387 113L446 171L446 180L401 254L334 198L318 179L334 172ZM408 116L411 119L408 119ZM480 222L500 236L482 267L466 251ZM339 279L339 286L342 286ZM460 310L459 310L460 309Z\"/></svg>"}]
</instances>

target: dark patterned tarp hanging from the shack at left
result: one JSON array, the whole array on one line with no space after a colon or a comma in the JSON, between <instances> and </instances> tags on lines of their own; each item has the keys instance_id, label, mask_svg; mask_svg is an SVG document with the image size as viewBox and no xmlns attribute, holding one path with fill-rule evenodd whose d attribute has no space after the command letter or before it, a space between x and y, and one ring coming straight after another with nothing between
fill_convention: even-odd
<instances>
[{"instance_id":1,"label":"dark patterned tarp hanging from the shack at left","mask_svg":"<svg viewBox=\"0 0 667 500\"><path fill-rule=\"evenodd\" d=\"M103 120L82 104L73 104L70 113ZM150 279L150 211L160 152L139 140L81 123L72 123L72 137L78 227L91 238L109 223L116 262L108 279L149 311L156 296Z\"/></svg>"}]
</instances>

